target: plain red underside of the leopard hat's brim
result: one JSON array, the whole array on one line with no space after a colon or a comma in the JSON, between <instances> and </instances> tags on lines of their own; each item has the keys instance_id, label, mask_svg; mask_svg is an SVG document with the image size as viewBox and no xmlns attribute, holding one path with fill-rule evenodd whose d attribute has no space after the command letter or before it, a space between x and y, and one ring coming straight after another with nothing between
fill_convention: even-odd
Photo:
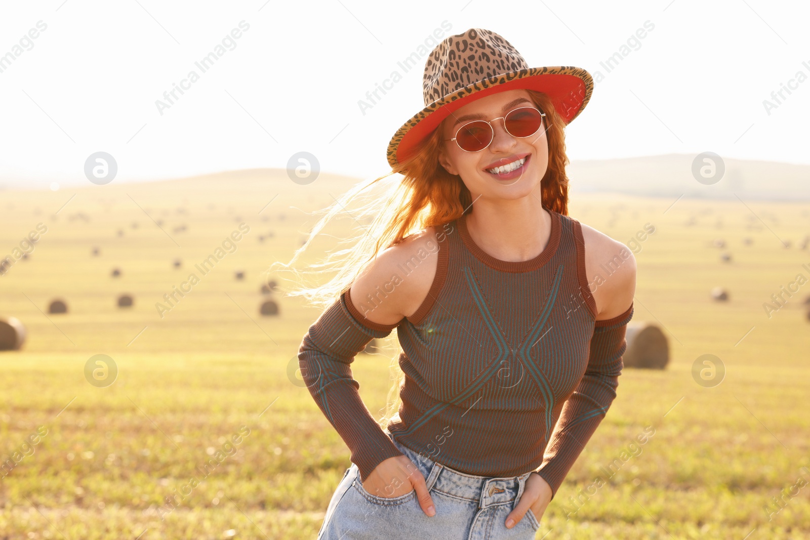
<instances>
[{"instance_id":1,"label":"plain red underside of the leopard hat's brim","mask_svg":"<svg viewBox=\"0 0 810 540\"><path fill-rule=\"evenodd\" d=\"M454 113L464 105L475 100L480 100L482 97L518 88L542 91L548 94L554 102L557 113L560 114L566 124L572 121L573 118L577 116L580 109L582 109L582 102L586 95L586 85L582 79L575 75L559 73L545 73L524 77L522 79L513 79L506 83L496 84L493 87L473 91L471 94L467 94L467 96L441 105L437 110L428 113L427 117L424 117L423 120L419 121L408 130L397 147L397 161L402 163L407 159L411 153L416 150L420 142L428 137L442 120L449 117L450 113ZM417 115L417 117L418 116L419 115ZM411 119L411 121L413 121L413 119Z\"/></svg>"}]
</instances>

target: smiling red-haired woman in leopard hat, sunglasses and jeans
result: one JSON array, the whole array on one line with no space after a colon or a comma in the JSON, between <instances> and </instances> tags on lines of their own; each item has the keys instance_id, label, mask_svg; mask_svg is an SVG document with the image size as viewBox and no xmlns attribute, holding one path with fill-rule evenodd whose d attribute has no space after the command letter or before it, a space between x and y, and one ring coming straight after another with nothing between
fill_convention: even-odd
<instances>
[{"instance_id":1,"label":"smiling red-haired woman in leopard hat, sunglasses and jeans","mask_svg":"<svg viewBox=\"0 0 810 540\"><path fill-rule=\"evenodd\" d=\"M318 289L331 303L298 355L352 450L318 538L534 538L616 397L633 317L632 253L568 216L563 128L592 84L482 28L428 57L426 107L388 148L403 181L366 209L370 262ZM394 328L384 430L349 364Z\"/></svg>"}]
</instances>

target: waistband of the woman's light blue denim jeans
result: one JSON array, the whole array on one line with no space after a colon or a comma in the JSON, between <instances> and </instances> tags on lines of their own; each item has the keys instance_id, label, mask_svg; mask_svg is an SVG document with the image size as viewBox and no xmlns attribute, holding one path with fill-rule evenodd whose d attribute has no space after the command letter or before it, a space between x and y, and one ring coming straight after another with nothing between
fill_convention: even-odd
<instances>
[{"instance_id":1,"label":"waistband of the woman's light blue denim jeans","mask_svg":"<svg viewBox=\"0 0 810 540\"><path fill-rule=\"evenodd\" d=\"M466 499L478 503L478 508L487 508L498 504L508 504L523 495L526 480L531 471L519 476L491 477L475 476L450 469L437 461L433 461L423 454L414 452L407 446L394 439L390 432L386 432L399 449L414 465L419 467L425 478L428 491L434 489L446 495L453 495L459 499Z\"/></svg>"}]
</instances>

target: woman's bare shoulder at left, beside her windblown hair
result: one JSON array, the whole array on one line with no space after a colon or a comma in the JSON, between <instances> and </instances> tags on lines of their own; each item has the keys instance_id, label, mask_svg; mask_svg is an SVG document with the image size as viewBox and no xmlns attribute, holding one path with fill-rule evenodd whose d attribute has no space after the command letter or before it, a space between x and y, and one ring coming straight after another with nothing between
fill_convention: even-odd
<instances>
[{"instance_id":1,"label":"woman's bare shoulder at left, beside her windblown hair","mask_svg":"<svg viewBox=\"0 0 810 540\"><path fill-rule=\"evenodd\" d=\"M382 325L416 313L436 274L438 245L435 227L428 227L377 253L350 287L352 304Z\"/></svg>"}]
</instances>

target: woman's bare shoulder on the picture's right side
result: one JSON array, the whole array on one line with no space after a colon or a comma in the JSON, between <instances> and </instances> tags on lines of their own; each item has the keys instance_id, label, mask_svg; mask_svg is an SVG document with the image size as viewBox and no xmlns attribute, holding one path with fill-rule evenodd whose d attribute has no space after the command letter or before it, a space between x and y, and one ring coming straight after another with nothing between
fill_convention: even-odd
<instances>
[{"instance_id":1,"label":"woman's bare shoulder on the picture's right side","mask_svg":"<svg viewBox=\"0 0 810 540\"><path fill-rule=\"evenodd\" d=\"M612 319L628 310L636 293L636 257L618 240L585 223L585 269L596 301L597 321Z\"/></svg>"}]
</instances>

